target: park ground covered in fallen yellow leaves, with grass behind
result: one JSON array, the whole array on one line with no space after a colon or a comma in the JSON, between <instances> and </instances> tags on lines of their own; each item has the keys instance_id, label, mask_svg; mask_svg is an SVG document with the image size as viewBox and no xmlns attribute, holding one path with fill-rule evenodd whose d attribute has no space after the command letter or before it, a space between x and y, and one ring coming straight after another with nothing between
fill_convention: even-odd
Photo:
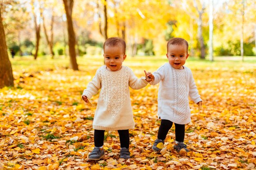
<instances>
[{"instance_id":1,"label":"park ground covered in fallen yellow leaves, with grass behind","mask_svg":"<svg viewBox=\"0 0 256 170\"><path fill-rule=\"evenodd\" d=\"M81 100L81 94L103 60L85 57L79 60L81 71L56 64L40 67L40 59L29 64L20 60L12 61L15 86L0 89L0 169L256 168L255 62L186 63L203 99L200 112L190 102L192 122L186 125L185 142L191 152L186 156L173 150L174 126L162 152L152 151L160 123L158 86L148 85L130 91L136 122L135 129L130 130L131 159L119 159L118 133L108 131L104 141L106 156L101 161L88 161L88 153L94 147L92 121L98 95L89 107ZM164 62L164 58L144 57L130 58L124 64L140 77L144 69L155 71Z\"/></svg>"}]
</instances>

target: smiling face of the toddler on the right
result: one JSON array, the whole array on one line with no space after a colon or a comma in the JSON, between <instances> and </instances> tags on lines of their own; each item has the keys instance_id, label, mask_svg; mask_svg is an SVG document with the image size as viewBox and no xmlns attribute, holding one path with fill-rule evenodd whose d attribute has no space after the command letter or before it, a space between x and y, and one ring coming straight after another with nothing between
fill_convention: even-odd
<instances>
[{"instance_id":1,"label":"smiling face of the toddler on the right","mask_svg":"<svg viewBox=\"0 0 256 170\"><path fill-rule=\"evenodd\" d=\"M183 69L189 54L185 45L170 45L166 57L173 68Z\"/></svg>"}]
</instances>

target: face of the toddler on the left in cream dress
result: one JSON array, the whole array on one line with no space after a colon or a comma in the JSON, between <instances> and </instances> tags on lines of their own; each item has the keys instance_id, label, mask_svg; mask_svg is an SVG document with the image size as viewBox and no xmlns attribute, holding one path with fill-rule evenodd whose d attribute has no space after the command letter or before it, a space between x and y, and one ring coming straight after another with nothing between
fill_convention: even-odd
<instances>
[{"instance_id":1,"label":"face of the toddler on the left in cream dress","mask_svg":"<svg viewBox=\"0 0 256 170\"><path fill-rule=\"evenodd\" d=\"M119 71L122 68L123 61L126 59L124 50L120 46L105 46L103 55L108 71Z\"/></svg>"}]
</instances>

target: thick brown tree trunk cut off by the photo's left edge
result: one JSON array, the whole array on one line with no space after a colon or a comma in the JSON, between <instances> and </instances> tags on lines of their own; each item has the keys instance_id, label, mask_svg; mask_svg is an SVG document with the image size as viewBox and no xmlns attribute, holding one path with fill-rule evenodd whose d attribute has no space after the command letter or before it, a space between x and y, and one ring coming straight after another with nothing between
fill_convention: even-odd
<instances>
[{"instance_id":1,"label":"thick brown tree trunk cut off by the photo's left edge","mask_svg":"<svg viewBox=\"0 0 256 170\"><path fill-rule=\"evenodd\" d=\"M13 86L13 74L11 62L7 53L7 46L4 35L4 27L2 24L1 8L0 8L0 88L4 86Z\"/></svg>"}]
</instances>

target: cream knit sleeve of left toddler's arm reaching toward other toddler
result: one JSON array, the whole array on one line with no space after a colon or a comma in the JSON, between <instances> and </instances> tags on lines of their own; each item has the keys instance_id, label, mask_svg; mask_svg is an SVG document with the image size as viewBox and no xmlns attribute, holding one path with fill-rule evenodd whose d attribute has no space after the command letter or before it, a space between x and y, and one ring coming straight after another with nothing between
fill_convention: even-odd
<instances>
[{"instance_id":1,"label":"cream knit sleeve of left toddler's arm reaching toward other toddler","mask_svg":"<svg viewBox=\"0 0 256 170\"><path fill-rule=\"evenodd\" d=\"M148 82L146 81L145 77L141 77L140 79L138 79L134 73L132 72L132 70L129 68L129 86L132 89L138 90L141 88L146 87L148 84Z\"/></svg>"}]
</instances>

